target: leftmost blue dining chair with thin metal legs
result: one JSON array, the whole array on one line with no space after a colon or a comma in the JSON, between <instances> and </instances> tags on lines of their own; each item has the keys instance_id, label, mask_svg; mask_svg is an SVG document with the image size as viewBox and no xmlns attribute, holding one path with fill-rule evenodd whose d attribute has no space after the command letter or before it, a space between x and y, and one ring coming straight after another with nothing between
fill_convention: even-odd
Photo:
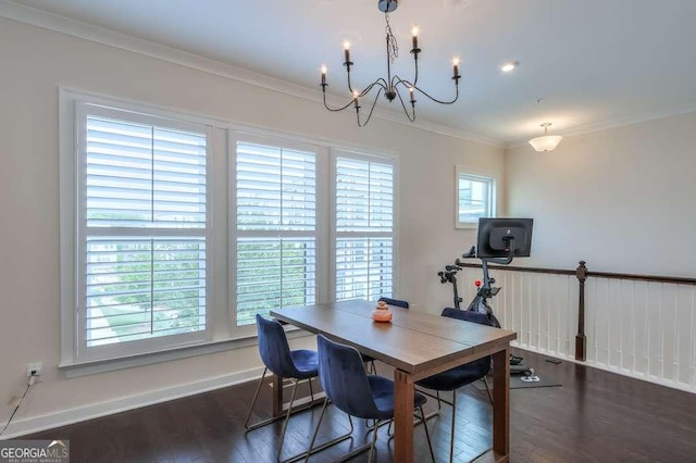
<instances>
[{"instance_id":1,"label":"leftmost blue dining chair with thin metal legs","mask_svg":"<svg viewBox=\"0 0 696 463\"><path fill-rule=\"evenodd\" d=\"M287 430L287 423L290 418L290 414L300 410L306 410L312 405L312 402L314 402L314 391L312 390L311 379L319 375L318 354L316 351L313 350L290 350L290 346L287 342L287 337L285 336L285 330L283 329L281 323L275 320L266 320L257 314L257 329L259 334L259 353L261 355L261 360L263 361L264 368L263 375L261 375L261 379L259 380L259 384L257 386L257 390L253 393L253 400L251 401L251 406L249 408L249 413L247 414L245 428L247 430L251 430L279 420L279 417L276 416L261 421L253 425L249 424L251 412L256 406L257 400L259 398L259 391L261 390L261 385L263 384L263 379L265 378L265 374L268 373L268 371L270 370L281 379L289 379L293 383L293 393L290 397L290 403L285 414L283 430L281 431L281 446L278 447L277 454L277 458L279 459L283 451L285 431ZM293 410L293 403L295 402L295 395L297 392L297 385L301 380L309 381L311 401L307 406Z\"/></svg>"}]
</instances>

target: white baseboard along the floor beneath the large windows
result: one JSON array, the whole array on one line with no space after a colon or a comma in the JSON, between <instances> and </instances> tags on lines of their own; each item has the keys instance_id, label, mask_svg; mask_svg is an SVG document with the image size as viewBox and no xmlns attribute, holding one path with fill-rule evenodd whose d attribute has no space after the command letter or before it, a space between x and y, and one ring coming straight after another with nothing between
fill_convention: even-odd
<instances>
[{"instance_id":1,"label":"white baseboard along the floor beneath the large windows","mask_svg":"<svg viewBox=\"0 0 696 463\"><path fill-rule=\"evenodd\" d=\"M28 434L53 429L87 420L94 420L114 413L125 412L127 410L139 409L142 406L153 405L156 403L181 399L183 397L195 396L197 393L221 389L223 387L238 385L241 383L258 379L261 377L262 373L263 367L251 368L229 375L223 375L154 391L148 391L137 396L123 397L120 399L77 406L75 409L63 410L46 415L21 418L13 422L8 427L7 434L2 435L0 439L11 439L20 436L26 436ZM4 424L2 425L4 426Z\"/></svg>"}]
</instances>

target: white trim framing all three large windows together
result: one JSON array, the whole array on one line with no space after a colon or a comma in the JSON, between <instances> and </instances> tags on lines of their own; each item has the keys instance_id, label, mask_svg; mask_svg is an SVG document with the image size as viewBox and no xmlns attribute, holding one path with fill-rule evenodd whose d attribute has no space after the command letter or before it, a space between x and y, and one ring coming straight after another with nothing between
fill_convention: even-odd
<instances>
[{"instance_id":1,"label":"white trim framing all three large windows together","mask_svg":"<svg viewBox=\"0 0 696 463\"><path fill-rule=\"evenodd\" d=\"M77 126L75 103L83 101L110 108L117 108L135 113L145 113L167 120L181 120L192 124L210 125L213 133L208 149L212 149L208 158L208 195L209 195L209 256L207 262L209 275L209 301L207 304L207 317L211 328L211 336L207 341L194 345L170 347L163 350L153 350L146 353L125 354L123 356L101 360L77 359L76 352L76 259L75 259L75 233L77 230ZM235 173L232 165L235 162L236 143L233 141L235 134L241 134L282 140L286 146L293 143L310 145L319 147L322 155L318 158L318 242L316 252L325 255L316 262L316 301L327 302L334 298L334 268L333 255L335 252L335 217L333 214L332 199L334 188L334 173L332 160L334 151L349 153L353 158L363 158L372 161L390 160L394 163L394 283L393 290L398 293L398 255L399 255L399 157L397 153L385 153L363 148L360 146L336 142L328 139L307 137L281 130L247 126L222 120L215 120L199 114L181 112L181 110L142 103L120 97L110 97L96 92L78 90L70 87L59 87L59 178L60 178L60 306L61 306L61 346L59 368L65 377L78 377L96 373L129 368L134 366L166 362L177 359L186 359L196 355L210 354L253 346L257 343L257 333L253 326L238 327L235 329L236 310L233 302L234 285L229 285L234 278L232 275L234 265L231 265L231 255L235 255L236 243L236 214L231 213L236 208ZM220 250L226 250L221 255L215 255ZM228 290L232 289L232 291ZM240 329L244 328L244 329ZM288 338L310 336L310 334L295 328L286 327Z\"/></svg>"}]
</instances>

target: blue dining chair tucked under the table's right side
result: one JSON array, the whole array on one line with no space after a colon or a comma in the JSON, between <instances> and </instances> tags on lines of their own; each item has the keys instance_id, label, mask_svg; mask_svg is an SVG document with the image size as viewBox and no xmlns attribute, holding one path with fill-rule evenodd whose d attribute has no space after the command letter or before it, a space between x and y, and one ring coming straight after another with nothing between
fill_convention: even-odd
<instances>
[{"instance_id":1,"label":"blue dining chair tucked under the table's right side","mask_svg":"<svg viewBox=\"0 0 696 463\"><path fill-rule=\"evenodd\" d=\"M459 309L446 308L443 310L443 316L448 316L450 318L463 320L464 322L477 323L480 325L488 325L490 326L490 321L485 313L464 311ZM493 396L490 395L490 389L488 388L488 383L486 381L486 375L490 371L490 356L484 356L478 360L474 360L473 362L467 363L461 366L456 366L451 370L448 370L443 373L438 373L433 376L428 376L425 379L421 379L415 384L422 388L435 390L437 396L437 412L432 414L431 416L437 414L440 410L440 402L445 402L452 408L452 423L451 423L451 436L449 441L449 461L451 463L453 453L455 453L455 421L457 417L457 390L463 386L467 386L475 380L483 379L486 385L486 391L488 392L488 399L493 404ZM440 398L440 391L452 391L452 401L448 402L447 400ZM423 391L423 393L426 393ZM428 395L430 396L430 395ZM428 417L431 417L428 416Z\"/></svg>"}]
</instances>

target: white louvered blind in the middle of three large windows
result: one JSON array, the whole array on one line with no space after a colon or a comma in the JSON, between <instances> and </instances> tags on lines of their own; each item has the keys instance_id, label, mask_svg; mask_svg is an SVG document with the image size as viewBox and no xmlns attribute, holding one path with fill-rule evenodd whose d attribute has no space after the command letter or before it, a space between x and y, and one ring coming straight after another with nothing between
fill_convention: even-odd
<instances>
[{"instance_id":1,"label":"white louvered blind in the middle of three large windows","mask_svg":"<svg viewBox=\"0 0 696 463\"><path fill-rule=\"evenodd\" d=\"M238 141L237 325L316 299L316 154Z\"/></svg>"}]
</instances>

